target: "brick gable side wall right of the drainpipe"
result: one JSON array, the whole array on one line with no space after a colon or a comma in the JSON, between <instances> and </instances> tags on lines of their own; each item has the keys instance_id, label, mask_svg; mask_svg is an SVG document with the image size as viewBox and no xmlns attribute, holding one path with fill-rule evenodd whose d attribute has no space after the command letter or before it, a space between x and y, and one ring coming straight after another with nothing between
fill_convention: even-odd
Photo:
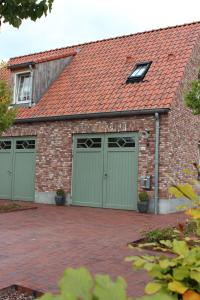
<instances>
[{"instance_id":1,"label":"brick gable side wall right of the drainpipe","mask_svg":"<svg viewBox=\"0 0 200 300\"><path fill-rule=\"evenodd\" d=\"M169 173L176 182L196 179L195 174L184 175L183 170L194 172L193 162L199 161L198 142L200 141L200 116L194 116L184 104L184 93L190 82L197 79L200 67L200 39L193 49L190 61L184 70L182 81L169 113ZM169 182L166 181L166 185Z\"/></svg>"}]
</instances>

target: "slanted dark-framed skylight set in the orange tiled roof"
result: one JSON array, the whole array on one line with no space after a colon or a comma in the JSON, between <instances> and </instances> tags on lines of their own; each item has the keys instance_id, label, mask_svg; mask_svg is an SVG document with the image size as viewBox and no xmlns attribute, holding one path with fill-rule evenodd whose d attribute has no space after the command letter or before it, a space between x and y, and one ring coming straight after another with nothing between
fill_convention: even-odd
<instances>
[{"instance_id":1,"label":"slanted dark-framed skylight set in the orange tiled roof","mask_svg":"<svg viewBox=\"0 0 200 300\"><path fill-rule=\"evenodd\" d=\"M143 63L138 63L135 65L132 73L129 75L126 83L129 82L140 82L144 79L146 73L148 72L150 66L151 66L151 61L150 62L143 62Z\"/></svg>"}]
</instances>

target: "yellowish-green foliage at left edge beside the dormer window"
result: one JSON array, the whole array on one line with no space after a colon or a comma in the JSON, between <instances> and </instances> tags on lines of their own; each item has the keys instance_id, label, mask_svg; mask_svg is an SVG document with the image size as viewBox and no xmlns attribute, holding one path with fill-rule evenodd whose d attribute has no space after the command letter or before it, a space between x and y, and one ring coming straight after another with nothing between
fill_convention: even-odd
<instances>
[{"instance_id":1,"label":"yellowish-green foliage at left edge beside the dormer window","mask_svg":"<svg viewBox=\"0 0 200 300\"><path fill-rule=\"evenodd\" d=\"M0 80L0 135L8 129L16 116L15 109L9 109L11 92L5 81Z\"/></svg>"}]
</instances>

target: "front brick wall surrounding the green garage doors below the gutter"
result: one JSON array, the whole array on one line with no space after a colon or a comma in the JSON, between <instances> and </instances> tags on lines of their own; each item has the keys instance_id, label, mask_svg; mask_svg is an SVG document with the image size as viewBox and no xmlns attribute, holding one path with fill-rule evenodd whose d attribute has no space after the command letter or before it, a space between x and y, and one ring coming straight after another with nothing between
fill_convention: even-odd
<instances>
[{"instance_id":1,"label":"front brick wall surrounding the green garage doors below the gutter","mask_svg":"<svg viewBox=\"0 0 200 300\"><path fill-rule=\"evenodd\" d=\"M161 123L166 123L163 116ZM32 124L16 124L6 136L36 136L36 183L38 192L55 191L63 186L71 190L72 135L76 133L141 132L150 131L149 145L144 137L139 138L139 177L154 173L154 116L134 116L116 119L56 121ZM165 139L161 139L161 145ZM164 145L162 145L164 149ZM161 174L162 175L162 174ZM162 177L162 176L161 176ZM138 183L139 184L139 183ZM161 185L162 186L162 185Z\"/></svg>"}]
</instances>

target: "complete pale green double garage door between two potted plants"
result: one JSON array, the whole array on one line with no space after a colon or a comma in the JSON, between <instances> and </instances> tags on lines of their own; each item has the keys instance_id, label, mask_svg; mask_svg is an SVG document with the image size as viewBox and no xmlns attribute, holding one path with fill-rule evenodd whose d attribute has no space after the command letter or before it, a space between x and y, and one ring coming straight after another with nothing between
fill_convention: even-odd
<instances>
[{"instance_id":1,"label":"complete pale green double garage door between two potted plants","mask_svg":"<svg viewBox=\"0 0 200 300\"><path fill-rule=\"evenodd\" d=\"M72 203L136 209L137 134L74 136Z\"/></svg>"}]
</instances>

